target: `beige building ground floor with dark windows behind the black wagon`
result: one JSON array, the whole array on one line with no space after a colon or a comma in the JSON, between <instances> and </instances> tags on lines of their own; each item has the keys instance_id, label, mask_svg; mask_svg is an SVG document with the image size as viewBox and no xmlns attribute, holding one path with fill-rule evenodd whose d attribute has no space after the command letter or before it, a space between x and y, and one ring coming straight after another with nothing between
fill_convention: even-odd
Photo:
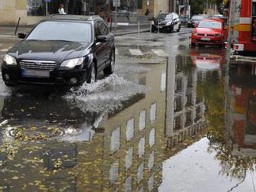
<instances>
[{"instance_id":1,"label":"beige building ground floor with dark windows behind the black wagon","mask_svg":"<svg viewBox=\"0 0 256 192\"><path fill-rule=\"evenodd\" d=\"M112 0L1 0L0 25L14 26L20 18L20 25L32 25L45 19L47 13L57 14L60 4L65 12L72 15L94 15L101 12L114 12ZM157 12L169 12L170 0L121 0L118 12L144 15L148 11L153 17Z\"/></svg>"}]
</instances>

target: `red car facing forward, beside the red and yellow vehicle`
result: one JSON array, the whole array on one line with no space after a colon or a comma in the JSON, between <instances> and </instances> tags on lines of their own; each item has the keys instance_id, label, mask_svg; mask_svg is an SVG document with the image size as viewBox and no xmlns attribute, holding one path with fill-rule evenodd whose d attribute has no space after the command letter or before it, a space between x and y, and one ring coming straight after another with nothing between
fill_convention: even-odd
<instances>
[{"instance_id":1,"label":"red car facing forward, beside the red and yellow vehicle","mask_svg":"<svg viewBox=\"0 0 256 192\"><path fill-rule=\"evenodd\" d=\"M227 28L223 19L202 19L192 31L191 44L220 45L227 39Z\"/></svg>"}]
</instances>

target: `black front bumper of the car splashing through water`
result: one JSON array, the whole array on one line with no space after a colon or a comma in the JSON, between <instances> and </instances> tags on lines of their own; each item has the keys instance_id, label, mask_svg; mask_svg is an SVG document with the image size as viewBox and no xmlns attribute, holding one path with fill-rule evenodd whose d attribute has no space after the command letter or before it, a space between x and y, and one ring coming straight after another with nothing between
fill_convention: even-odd
<instances>
[{"instance_id":1,"label":"black front bumper of the car splashing through water","mask_svg":"<svg viewBox=\"0 0 256 192\"><path fill-rule=\"evenodd\" d=\"M5 74L9 75L7 79ZM78 82L71 84L71 78L77 78ZM53 70L50 77L23 77L22 69L19 66L7 66L2 64L2 79L7 84L35 84L35 85L63 85L77 86L83 84L87 79L86 69Z\"/></svg>"}]
</instances>

